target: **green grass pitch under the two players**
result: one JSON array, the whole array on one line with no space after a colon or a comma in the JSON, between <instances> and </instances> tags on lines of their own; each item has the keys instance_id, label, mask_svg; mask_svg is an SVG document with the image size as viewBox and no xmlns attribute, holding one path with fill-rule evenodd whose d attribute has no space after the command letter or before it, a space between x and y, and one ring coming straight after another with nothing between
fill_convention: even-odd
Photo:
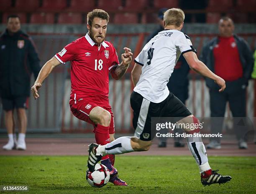
<instances>
[{"instance_id":1,"label":"green grass pitch under the two players","mask_svg":"<svg viewBox=\"0 0 256 194\"><path fill-rule=\"evenodd\" d=\"M85 179L86 161L86 156L0 156L0 185L28 186L29 193L256 192L256 157L209 157L213 169L233 178L210 187L202 186L189 156L117 156L115 167L129 187L91 187Z\"/></svg>"}]
</instances>

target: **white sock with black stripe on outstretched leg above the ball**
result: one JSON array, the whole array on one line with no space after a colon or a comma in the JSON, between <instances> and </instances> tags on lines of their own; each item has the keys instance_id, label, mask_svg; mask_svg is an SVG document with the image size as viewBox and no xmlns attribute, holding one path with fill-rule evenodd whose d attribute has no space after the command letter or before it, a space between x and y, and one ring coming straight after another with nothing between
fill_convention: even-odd
<instances>
[{"instance_id":1,"label":"white sock with black stripe on outstretched leg above the ball","mask_svg":"<svg viewBox=\"0 0 256 194\"><path fill-rule=\"evenodd\" d=\"M106 145L100 145L97 148L97 152L102 156L107 154L124 154L134 152L131 147L131 137L119 137Z\"/></svg>"}]
</instances>

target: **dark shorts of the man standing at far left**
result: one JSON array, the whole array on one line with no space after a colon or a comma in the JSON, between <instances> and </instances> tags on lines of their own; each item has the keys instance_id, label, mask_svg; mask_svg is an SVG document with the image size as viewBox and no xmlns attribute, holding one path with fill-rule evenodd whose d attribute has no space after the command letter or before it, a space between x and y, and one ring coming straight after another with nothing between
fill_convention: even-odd
<instances>
[{"instance_id":1,"label":"dark shorts of the man standing at far left","mask_svg":"<svg viewBox=\"0 0 256 194\"><path fill-rule=\"evenodd\" d=\"M17 108L28 108L28 97L8 97L8 98L1 98L3 109L5 111L13 110Z\"/></svg>"}]
</instances>

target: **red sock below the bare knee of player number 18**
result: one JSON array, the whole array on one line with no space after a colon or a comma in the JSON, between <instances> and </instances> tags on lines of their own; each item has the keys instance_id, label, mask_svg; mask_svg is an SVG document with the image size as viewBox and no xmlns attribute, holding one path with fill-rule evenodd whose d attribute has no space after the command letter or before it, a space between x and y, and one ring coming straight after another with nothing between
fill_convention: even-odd
<instances>
[{"instance_id":1,"label":"red sock below the bare knee of player number 18","mask_svg":"<svg viewBox=\"0 0 256 194\"><path fill-rule=\"evenodd\" d=\"M93 132L95 133L95 140L97 144L105 145L110 142L110 136L108 132L109 126L105 127L100 124L94 128ZM101 160L108 159L108 155L105 155L101 158Z\"/></svg>"}]
</instances>

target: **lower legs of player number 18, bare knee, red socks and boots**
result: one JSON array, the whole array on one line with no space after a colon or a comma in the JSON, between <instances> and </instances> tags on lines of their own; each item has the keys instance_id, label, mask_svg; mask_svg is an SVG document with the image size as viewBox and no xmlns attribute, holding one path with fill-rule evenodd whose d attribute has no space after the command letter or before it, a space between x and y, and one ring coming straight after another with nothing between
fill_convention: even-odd
<instances>
[{"instance_id":1,"label":"lower legs of player number 18, bare knee, red socks and boots","mask_svg":"<svg viewBox=\"0 0 256 194\"><path fill-rule=\"evenodd\" d=\"M90 119L96 124L94 129L97 144L105 145L114 140L114 134L109 134L111 114L102 107L94 107L90 114ZM110 161L111 157L111 161ZM110 171L110 182L118 186L127 186L127 184L118 178L118 171L113 167L115 157L105 155L101 158L101 164L105 165ZM93 158L91 158L93 160ZM88 166L89 167L89 166Z\"/></svg>"}]
</instances>

